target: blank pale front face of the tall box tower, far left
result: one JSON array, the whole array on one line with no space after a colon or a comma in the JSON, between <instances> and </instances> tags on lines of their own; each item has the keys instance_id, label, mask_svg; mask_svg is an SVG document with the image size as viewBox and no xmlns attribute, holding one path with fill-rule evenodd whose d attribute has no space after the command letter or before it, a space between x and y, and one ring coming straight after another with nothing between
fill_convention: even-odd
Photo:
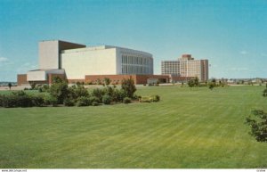
<instances>
[{"instance_id":1,"label":"blank pale front face of the tall box tower, far left","mask_svg":"<svg viewBox=\"0 0 267 172\"><path fill-rule=\"evenodd\" d=\"M59 68L59 41L39 42L39 69Z\"/></svg>"}]
</instances>

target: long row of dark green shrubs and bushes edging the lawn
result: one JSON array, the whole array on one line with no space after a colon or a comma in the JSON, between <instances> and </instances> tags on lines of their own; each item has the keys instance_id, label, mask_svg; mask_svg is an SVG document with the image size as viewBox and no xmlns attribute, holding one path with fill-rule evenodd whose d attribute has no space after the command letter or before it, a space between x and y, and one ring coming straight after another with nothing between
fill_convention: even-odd
<instances>
[{"instance_id":1,"label":"long row of dark green shrubs and bushes edging the lawn","mask_svg":"<svg viewBox=\"0 0 267 172\"><path fill-rule=\"evenodd\" d=\"M0 107L32 107L32 106L97 106L101 103L130 103L141 100L141 96L134 94L136 88L133 80L126 80L120 89L116 86L95 88L91 93L81 85L68 86L61 78L55 78L52 86L39 87L46 93L27 94L24 91L12 92L12 94L0 95ZM150 102L158 102L159 96L150 97ZM142 102L142 101L140 101ZM147 102L147 101L145 101Z\"/></svg>"}]
</instances>

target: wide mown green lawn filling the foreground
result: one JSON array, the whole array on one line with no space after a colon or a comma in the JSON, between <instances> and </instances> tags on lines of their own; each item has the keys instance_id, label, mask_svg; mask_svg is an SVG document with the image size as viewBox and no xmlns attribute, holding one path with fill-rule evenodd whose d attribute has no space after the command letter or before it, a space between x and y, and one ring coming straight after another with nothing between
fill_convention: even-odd
<instances>
[{"instance_id":1,"label":"wide mown green lawn filling the foreground","mask_svg":"<svg viewBox=\"0 0 267 172\"><path fill-rule=\"evenodd\" d=\"M0 108L0 168L267 168L248 135L264 86L144 86L161 102Z\"/></svg>"}]
</instances>

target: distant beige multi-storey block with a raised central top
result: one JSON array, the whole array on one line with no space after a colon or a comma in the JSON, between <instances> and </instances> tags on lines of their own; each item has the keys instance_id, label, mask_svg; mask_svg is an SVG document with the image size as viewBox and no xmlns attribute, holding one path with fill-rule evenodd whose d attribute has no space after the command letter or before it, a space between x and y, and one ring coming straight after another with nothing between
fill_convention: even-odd
<instances>
[{"instance_id":1,"label":"distant beige multi-storey block with a raised central top","mask_svg":"<svg viewBox=\"0 0 267 172\"><path fill-rule=\"evenodd\" d=\"M198 78L208 80L208 61L194 60L190 54L183 54L178 61L161 61L161 74L173 78Z\"/></svg>"}]
</instances>

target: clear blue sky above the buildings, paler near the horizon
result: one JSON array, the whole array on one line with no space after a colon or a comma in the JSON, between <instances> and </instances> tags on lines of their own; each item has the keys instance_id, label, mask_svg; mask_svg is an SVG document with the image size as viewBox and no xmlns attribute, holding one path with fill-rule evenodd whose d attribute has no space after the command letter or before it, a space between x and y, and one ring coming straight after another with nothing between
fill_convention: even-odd
<instances>
[{"instance_id":1,"label":"clear blue sky above the buildings, paler near the horizon","mask_svg":"<svg viewBox=\"0 0 267 172\"><path fill-rule=\"evenodd\" d=\"M208 59L209 78L267 78L267 0L0 0L0 81L38 69L38 42Z\"/></svg>"}]
</instances>

